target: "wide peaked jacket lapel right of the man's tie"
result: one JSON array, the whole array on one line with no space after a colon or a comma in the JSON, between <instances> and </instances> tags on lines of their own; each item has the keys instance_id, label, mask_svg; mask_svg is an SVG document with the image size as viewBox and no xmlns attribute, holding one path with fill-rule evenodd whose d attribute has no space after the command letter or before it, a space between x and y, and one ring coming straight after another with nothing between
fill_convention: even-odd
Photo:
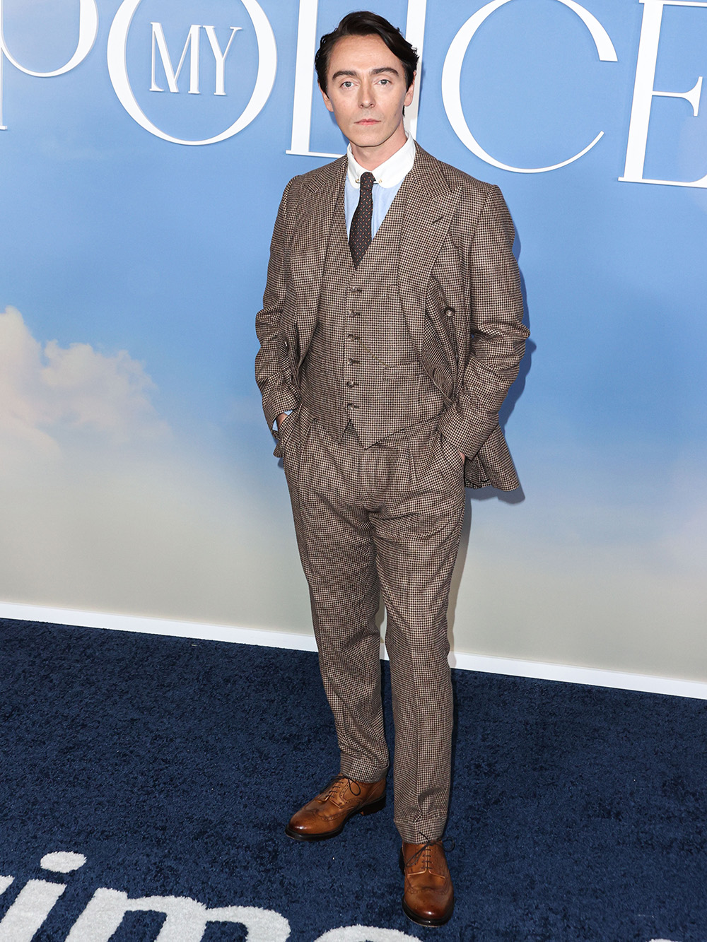
<instances>
[{"instance_id":1,"label":"wide peaked jacket lapel right of the man's tie","mask_svg":"<svg viewBox=\"0 0 707 942\"><path fill-rule=\"evenodd\" d=\"M413 344L420 355L427 283L461 198L461 188L450 188L437 161L419 144L415 164L405 183L400 297Z\"/></svg>"}]
</instances>

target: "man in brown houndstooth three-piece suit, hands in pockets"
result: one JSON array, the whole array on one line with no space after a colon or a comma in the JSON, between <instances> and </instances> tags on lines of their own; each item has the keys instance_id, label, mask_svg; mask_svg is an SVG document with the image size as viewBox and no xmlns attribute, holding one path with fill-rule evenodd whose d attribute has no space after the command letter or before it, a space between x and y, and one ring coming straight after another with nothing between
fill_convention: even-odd
<instances>
[{"instance_id":1,"label":"man in brown houndstooth three-piece suit, hands in pockets","mask_svg":"<svg viewBox=\"0 0 707 942\"><path fill-rule=\"evenodd\" d=\"M295 177L271 243L255 375L277 438L340 749L288 836L336 836L385 804L380 594L395 719L403 910L452 916L452 686L446 612L464 485L513 490L498 414L528 334L501 191L403 126L418 56L370 12L315 60L349 149Z\"/></svg>"}]
</instances>

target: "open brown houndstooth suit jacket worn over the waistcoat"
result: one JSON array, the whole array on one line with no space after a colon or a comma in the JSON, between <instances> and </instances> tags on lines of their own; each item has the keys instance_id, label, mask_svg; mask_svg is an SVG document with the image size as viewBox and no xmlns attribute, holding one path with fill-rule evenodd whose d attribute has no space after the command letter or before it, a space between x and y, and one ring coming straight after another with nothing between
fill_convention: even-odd
<instances>
[{"instance_id":1,"label":"open brown houndstooth suit jacket worn over the waistcoat","mask_svg":"<svg viewBox=\"0 0 707 942\"><path fill-rule=\"evenodd\" d=\"M300 405L300 371L317 326L346 168L341 157L294 177L280 203L263 308L255 318L261 345L255 378L271 429L279 414ZM419 360L446 403L438 428L467 455L468 487L511 491L518 477L498 414L529 334L513 221L499 187L442 163L419 144L410 185L399 290Z\"/></svg>"}]
</instances>

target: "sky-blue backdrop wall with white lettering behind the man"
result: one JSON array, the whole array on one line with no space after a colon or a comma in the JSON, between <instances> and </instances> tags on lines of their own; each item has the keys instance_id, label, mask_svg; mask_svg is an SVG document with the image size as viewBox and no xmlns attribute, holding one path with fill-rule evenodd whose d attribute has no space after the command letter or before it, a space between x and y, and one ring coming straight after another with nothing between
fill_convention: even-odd
<instances>
[{"instance_id":1,"label":"sky-blue backdrop wall with white lettering behind the man","mask_svg":"<svg viewBox=\"0 0 707 942\"><path fill-rule=\"evenodd\" d=\"M345 148L312 57L351 8L0 0L4 601L308 630L253 325L283 187ZM707 680L707 3L375 8L419 142L503 190L532 330L453 643Z\"/></svg>"}]
</instances>

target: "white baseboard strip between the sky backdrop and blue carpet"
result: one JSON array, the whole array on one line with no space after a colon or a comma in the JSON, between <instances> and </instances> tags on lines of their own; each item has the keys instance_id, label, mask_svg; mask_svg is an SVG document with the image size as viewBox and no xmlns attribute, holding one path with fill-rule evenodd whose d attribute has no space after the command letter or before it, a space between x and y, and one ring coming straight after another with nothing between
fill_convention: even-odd
<instances>
[{"instance_id":1,"label":"white baseboard strip between the sky backdrop and blue carpet","mask_svg":"<svg viewBox=\"0 0 707 942\"><path fill-rule=\"evenodd\" d=\"M0 618L26 622L51 622L56 625L81 625L89 628L108 628L114 631L137 631L150 635L169 635L174 638L194 638L204 641L260 644L263 647L288 648L292 651L316 651L312 635L288 631L270 631L260 628L241 628L234 625L201 625L196 622L176 622L164 618L143 618L137 615L112 615L105 612L54 609L38 605L20 605L0 602ZM381 657L386 652L381 645ZM559 680L569 684L588 684L592 687L611 687L616 690L637 690L646 693L666 693L670 696L707 700L707 683L679 680L673 677L654 677L648 674L624 674L594 667L574 667L569 664L550 664L515 658L493 658L488 655L450 653L450 664L461 671L480 671L484 674L505 674L514 677L534 677L538 680Z\"/></svg>"}]
</instances>

